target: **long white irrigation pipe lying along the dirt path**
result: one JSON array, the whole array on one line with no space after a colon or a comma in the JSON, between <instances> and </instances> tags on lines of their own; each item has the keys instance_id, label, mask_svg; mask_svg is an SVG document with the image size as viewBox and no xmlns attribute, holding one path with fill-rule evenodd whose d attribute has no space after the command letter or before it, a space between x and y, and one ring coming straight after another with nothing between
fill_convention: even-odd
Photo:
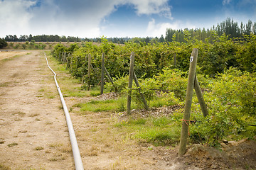
<instances>
[{"instance_id":1,"label":"long white irrigation pipe lying along the dirt path","mask_svg":"<svg viewBox=\"0 0 256 170\"><path fill-rule=\"evenodd\" d=\"M47 66L53 72L53 69L51 69L49 64L48 64L48 60L47 60L47 57L46 57L46 52L44 53L44 55L45 55L45 58L46 58ZM73 128L73 125L72 125L72 122L71 122L70 114L68 113L68 108L65 104L63 94L60 91L60 86L58 86L58 82L57 82L57 79L56 79L55 72L53 72L53 74L54 74L55 84L56 84L57 89L58 89L58 93L60 94L60 100L61 100L61 103L63 104L63 109L64 109L64 112L65 112L65 118L66 118L67 125L68 125L68 132L69 132L69 135L70 135L73 157L74 157L74 160L75 160L75 169L76 170L84 170L84 168L82 166L82 159L81 159L80 151L79 151L79 148L78 148L78 142L75 138L75 131L74 131L74 128Z\"/></svg>"}]
</instances>

